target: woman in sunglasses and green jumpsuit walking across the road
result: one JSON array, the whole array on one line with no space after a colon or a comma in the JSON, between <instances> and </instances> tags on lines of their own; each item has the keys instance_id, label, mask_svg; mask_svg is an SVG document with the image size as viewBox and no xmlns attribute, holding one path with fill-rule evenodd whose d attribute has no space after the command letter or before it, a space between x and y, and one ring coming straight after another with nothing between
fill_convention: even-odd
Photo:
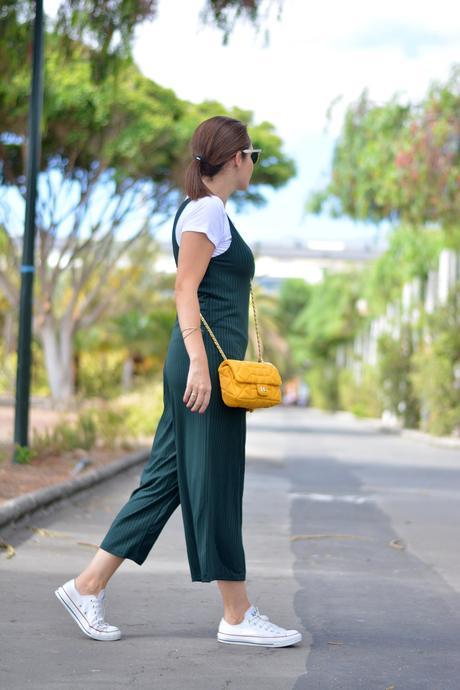
<instances>
[{"instance_id":1,"label":"woman in sunglasses and green jumpsuit walking across the road","mask_svg":"<svg viewBox=\"0 0 460 690\"><path fill-rule=\"evenodd\" d=\"M200 311L229 358L248 344L254 255L228 218L225 204L245 190L260 150L246 126L217 116L191 142L187 198L172 229L177 266L177 317L163 368L163 414L140 483L114 518L89 565L55 594L83 632L118 640L104 620L105 588L125 558L141 565L181 505L192 582L217 581L223 617L217 639L282 647L302 639L251 605L242 542L246 410L222 401L221 356L200 326Z\"/></svg>"}]
</instances>

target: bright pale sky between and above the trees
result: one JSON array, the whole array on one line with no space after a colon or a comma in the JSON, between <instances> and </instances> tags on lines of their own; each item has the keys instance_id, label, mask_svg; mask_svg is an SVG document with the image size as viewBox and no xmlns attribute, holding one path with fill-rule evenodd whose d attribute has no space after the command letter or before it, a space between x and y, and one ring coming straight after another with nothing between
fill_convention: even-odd
<instances>
[{"instance_id":1,"label":"bright pale sky between and above the trees","mask_svg":"<svg viewBox=\"0 0 460 690\"><path fill-rule=\"evenodd\" d=\"M53 14L56 3L45 0L45 11ZM228 45L221 31L200 21L203 6L204 0L159 0L156 18L136 30L134 59L181 98L237 105L275 126L298 175L272 191L263 209L236 214L229 200L228 213L245 239L382 246L388 224L305 215L305 202L327 184L344 112L364 88L376 103L396 93L408 102L422 99L431 81L447 80L460 61L460 6L451 0L284 0L278 21L278 2L265 0L261 30L239 22ZM170 233L167 223L157 237Z\"/></svg>"}]
</instances>

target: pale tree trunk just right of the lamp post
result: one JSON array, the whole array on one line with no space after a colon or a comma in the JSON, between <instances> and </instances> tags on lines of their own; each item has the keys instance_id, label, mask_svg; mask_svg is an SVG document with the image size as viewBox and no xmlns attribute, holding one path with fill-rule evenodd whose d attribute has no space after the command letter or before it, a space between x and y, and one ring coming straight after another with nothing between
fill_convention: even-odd
<instances>
[{"instance_id":1,"label":"pale tree trunk just right of the lamp post","mask_svg":"<svg viewBox=\"0 0 460 690\"><path fill-rule=\"evenodd\" d=\"M67 407L74 396L73 329L62 320L57 331L54 319L47 318L39 336L45 354L45 366L51 389L51 399L58 408Z\"/></svg>"}]
</instances>

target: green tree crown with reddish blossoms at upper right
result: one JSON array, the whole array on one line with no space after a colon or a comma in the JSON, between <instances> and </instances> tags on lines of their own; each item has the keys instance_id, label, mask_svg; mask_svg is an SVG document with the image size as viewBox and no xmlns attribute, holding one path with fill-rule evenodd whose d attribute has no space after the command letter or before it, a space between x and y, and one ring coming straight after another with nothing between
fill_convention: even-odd
<instances>
[{"instance_id":1,"label":"green tree crown with reddish blossoms at upper right","mask_svg":"<svg viewBox=\"0 0 460 690\"><path fill-rule=\"evenodd\" d=\"M401 105L395 96L375 105L365 89L347 109L331 179L307 208L371 222L435 223L458 240L459 142L460 64L421 103Z\"/></svg>"}]
</instances>

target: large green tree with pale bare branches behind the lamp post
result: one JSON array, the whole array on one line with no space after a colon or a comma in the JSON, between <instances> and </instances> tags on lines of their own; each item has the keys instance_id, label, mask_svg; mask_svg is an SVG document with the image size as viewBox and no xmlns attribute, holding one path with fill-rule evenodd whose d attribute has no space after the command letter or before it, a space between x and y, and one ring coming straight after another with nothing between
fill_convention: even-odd
<instances>
[{"instance_id":1,"label":"large green tree with pale bare branches behind the lamp post","mask_svg":"<svg viewBox=\"0 0 460 690\"><path fill-rule=\"evenodd\" d=\"M242 111L178 99L144 77L130 59L120 60L117 74L96 84L85 45L74 42L67 57L58 36L48 34L46 45L33 328L44 347L52 397L65 402L74 393L75 336L118 309L132 280L129 267L118 270L119 262L137 242L151 238L177 205L194 128L204 113L238 116ZM18 205L26 192L28 87L25 68L0 77L0 181L10 199L16 194ZM284 184L294 166L273 126L244 115L254 141L270 158L256 170L240 204L260 204L260 188ZM17 309L18 228L4 215L0 288Z\"/></svg>"}]
</instances>

